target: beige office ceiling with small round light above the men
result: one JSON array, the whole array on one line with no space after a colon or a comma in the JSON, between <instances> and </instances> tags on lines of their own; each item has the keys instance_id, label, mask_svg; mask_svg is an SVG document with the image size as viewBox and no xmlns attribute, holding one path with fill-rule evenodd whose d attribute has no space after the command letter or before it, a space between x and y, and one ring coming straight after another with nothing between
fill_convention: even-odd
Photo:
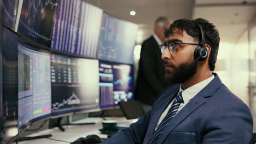
<instances>
[{"instance_id":1,"label":"beige office ceiling with small round light above the men","mask_svg":"<svg viewBox=\"0 0 256 144\"><path fill-rule=\"evenodd\" d=\"M214 23L220 38L235 43L256 13L256 0L84 0L102 8L106 13L139 25L137 44L153 33L159 16L171 20L202 17ZM136 15L131 16L130 11Z\"/></svg>"}]
</instances>

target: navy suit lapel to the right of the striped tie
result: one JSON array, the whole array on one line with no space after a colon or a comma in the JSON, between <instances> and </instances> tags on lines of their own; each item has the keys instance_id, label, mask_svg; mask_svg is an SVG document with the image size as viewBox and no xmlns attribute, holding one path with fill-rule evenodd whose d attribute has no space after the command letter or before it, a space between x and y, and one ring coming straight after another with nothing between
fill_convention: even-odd
<instances>
[{"instance_id":1,"label":"navy suit lapel to the right of the striped tie","mask_svg":"<svg viewBox=\"0 0 256 144\"><path fill-rule=\"evenodd\" d=\"M205 99L203 98L202 93L198 93L195 95L193 99L189 101L187 105L183 107L181 111L177 113L175 117L173 117L170 123L166 126L165 130L159 137L158 143L163 143L166 137L171 133L171 131L181 123L185 118L187 118L191 113L193 113L198 107L205 103Z\"/></svg>"}]
</instances>

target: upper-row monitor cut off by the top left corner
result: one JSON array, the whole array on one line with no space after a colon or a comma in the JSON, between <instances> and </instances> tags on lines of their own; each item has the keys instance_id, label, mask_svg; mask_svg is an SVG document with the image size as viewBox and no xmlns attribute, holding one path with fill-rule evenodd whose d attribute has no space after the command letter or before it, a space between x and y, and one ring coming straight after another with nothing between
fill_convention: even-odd
<instances>
[{"instance_id":1,"label":"upper-row monitor cut off by the top left corner","mask_svg":"<svg viewBox=\"0 0 256 144\"><path fill-rule=\"evenodd\" d=\"M3 23L13 31L17 32L20 11L22 6L22 1L20 0L0 0L0 17Z\"/></svg>"}]
</instances>

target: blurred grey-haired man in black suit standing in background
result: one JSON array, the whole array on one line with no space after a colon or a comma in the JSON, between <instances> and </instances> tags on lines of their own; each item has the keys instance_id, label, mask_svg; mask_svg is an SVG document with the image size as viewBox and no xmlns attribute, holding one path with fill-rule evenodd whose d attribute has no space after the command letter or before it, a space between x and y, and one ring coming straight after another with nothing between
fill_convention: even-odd
<instances>
[{"instance_id":1,"label":"blurred grey-haired man in black suit standing in background","mask_svg":"<svg viewBox=\"0 0 256 144\"><path fill-rule=\"evenodd\" d=\"M170 21L166 17L159 17L155 21L154 34L142 43L135 99L142 103L146 112L161 91L167 87L164 61L161 59L161 45L164 43L164 31L168 26Z\"/></svg>"}]
</instances>

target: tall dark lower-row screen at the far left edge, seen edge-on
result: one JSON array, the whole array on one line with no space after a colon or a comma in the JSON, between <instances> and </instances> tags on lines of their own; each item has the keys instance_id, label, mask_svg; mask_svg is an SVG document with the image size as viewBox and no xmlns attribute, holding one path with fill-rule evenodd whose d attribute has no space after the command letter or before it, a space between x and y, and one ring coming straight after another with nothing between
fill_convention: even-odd
<instances>
[{"instance_id":1,"label":"tall dark lower-row screen at the far left edge, seen edge-on","mask_svg":"<svg viewBox=\"0 0 256 144\"><path fill-rule=\"evenodd\" d=\"M2 143L7 143L18 134L18 35L5 28L1 22L0 32L0 119L5 122L1 136Z\"/></svg>"}]
</instances>

